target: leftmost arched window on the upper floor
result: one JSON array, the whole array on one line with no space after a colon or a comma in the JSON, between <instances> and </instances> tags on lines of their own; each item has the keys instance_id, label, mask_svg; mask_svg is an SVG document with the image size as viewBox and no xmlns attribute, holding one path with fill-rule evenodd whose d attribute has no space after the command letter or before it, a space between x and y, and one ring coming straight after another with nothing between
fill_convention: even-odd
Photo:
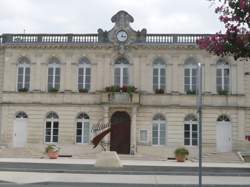
<instances>
[{"instance_id":1,"label":"leftmost arched window on the upper floor","mask_svg":"<svg viewBox=\"0 0 250 187\"><path fill-rule=\"evenodd\" d=\"M17 90L28 91L30 89L30 61L27 57L18 59Z\"/></svg>"}]
</instances>

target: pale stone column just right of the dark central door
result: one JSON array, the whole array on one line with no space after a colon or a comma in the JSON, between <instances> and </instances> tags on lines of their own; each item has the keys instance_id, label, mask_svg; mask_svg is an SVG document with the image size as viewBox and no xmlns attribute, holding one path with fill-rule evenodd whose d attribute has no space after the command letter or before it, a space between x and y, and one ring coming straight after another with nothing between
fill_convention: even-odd
<instances>
[{"instance_id":1,"label":"pale stone column just right of the dark central door","mask_svg":"<svg viewBox=\"0 0 250 187\"><path fill-rule=\"evenodd\" d=\"M136 114L137 106L132 108L130 129L130 154L136 154Z\"/></svg>"}]
</instances>

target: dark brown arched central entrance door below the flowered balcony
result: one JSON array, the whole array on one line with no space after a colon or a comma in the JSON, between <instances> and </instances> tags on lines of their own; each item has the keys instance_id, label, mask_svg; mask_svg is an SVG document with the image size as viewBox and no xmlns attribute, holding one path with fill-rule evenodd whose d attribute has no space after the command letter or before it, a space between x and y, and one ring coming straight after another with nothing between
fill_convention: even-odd
<instances>
[{"instance_id":1,"label":"dark brown arched central entrance door below the flowered balcony","mask_svg":"<svg viewBox=\"0 0 250 187\"><path fill-rule=\"evenodd\" d=\"M111 117L110 150L130 153L130 117L126 112L115 112Z\"/></svg>"}]
</instances>

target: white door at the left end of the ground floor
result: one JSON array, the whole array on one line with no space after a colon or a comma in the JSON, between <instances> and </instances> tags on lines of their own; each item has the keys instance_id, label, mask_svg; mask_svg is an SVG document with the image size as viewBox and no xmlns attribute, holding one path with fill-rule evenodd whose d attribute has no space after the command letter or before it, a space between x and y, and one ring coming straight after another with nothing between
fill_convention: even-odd
<instances>
[{"instance_id":1,"label":"white door at the left end of the ground floor","mask_svg":"<svg viewBox=\"0 0 250 187\"><path fill-rule=\"evenodd\" d=\"M27 119L16 118L13 126L13 147L24 147L27 142Z\"/></svg>"}]
</instances>

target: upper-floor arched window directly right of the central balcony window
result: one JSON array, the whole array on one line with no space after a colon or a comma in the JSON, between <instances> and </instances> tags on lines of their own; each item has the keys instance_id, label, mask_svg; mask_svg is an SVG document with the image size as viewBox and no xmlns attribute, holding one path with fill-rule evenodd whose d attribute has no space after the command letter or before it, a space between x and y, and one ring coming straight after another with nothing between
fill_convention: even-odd
<instances>
[{"instance_id":1,"label":"upper-floor arched window directly right of the central balcony window","mask_svg":"<svg viewBox=\"0 0 250 187\"><path fill-rule=\"evenodd\" d=\"M153 62L153 90L166 89L166 64L157 58Z\"/></svg>"}]
</instances>

